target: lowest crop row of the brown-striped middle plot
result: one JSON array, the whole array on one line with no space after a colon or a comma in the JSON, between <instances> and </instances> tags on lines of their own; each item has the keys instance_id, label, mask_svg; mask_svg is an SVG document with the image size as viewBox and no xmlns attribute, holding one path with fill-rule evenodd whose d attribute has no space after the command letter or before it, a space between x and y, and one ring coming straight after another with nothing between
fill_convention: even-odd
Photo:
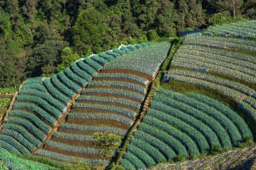
<instances>
[{"instance_id":1,"label":"lowest crop row of the brown-striped middle plot","mask_svg":"<svg viewBox=\"0 0 256 170\"><path fill-rule=\"evenodd\" d=\"M66 161L66 162L77 162L77 160L79 161L83 161L89 164L96 164L96 165L106 165L109 163L109 161L104 161L104 160L98 160L98 159L84 159L84 158L79 158L79 157L72 157L69 155L63 155L60 153L55 153L52 151L46 151L43 149L40 149L38 151L36 151L37 155L40 156L44 156L44 157L49 157L49 158L53 158L53 159L59 159L60 161Z\"/></svg>"}]
</instances>

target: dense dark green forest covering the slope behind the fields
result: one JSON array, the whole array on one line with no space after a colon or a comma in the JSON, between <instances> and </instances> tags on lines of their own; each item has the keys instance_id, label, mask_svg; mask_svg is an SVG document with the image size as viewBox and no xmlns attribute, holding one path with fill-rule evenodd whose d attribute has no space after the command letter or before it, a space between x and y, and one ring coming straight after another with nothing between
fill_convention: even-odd
<instances>
[{"instance_id":1,"label":"dense dark green forest covering the slope behind the fields","mask_svg":"<svg viewBox=\"0 0 256 170\"><path fill-rule=\"evenodd\" d=\"M246 19L255 0L0 0L0 87L121 44Z\"/></svg>"}]
</instances>

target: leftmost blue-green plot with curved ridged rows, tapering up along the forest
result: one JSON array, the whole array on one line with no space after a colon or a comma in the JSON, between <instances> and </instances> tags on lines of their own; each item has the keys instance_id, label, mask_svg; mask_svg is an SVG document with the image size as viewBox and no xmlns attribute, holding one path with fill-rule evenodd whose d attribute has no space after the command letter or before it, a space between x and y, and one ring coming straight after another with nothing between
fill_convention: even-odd
<instances>
[{"instance_id":1,"label":"leftmost blue-green plot with curved ridged rows, tapering up along the forest","mask_svg":"<svg viewBox=\"0 0 256 170\"><path fill-rule=\"evenodd\" d=\"M143 44L143 46L148 45ZM0 140L6 144L5 149L29 155L36 147L46 142L44 140L67 111L67 105L71 99L77 93L82 93L88 81L91 81L106 63L132 50L137 50L137 47L123 47L116 50L117 52L104 52L90 58L82 58L51 78L28 79L19 91L9 118L0 132ZM101 101L109 102L104 99ZM7 104L7 101L1 103ZM120 99L119 103L125 104L125 101ZM134 101L127 104L138 108ZM129 122L127 118L121 118L121 116L113 116L112 119L131 124L131 120ZM94 126L88 126L88 130L90 129L94 129ZM108 128L99 128L99 130L104 131ZM117 132L125 133L118 129ZM52 146L53 142L49 144ZM65 146L65 148L69 147ZM79 150L79 148L76 149Z\"/></svg>"}]
</instances>

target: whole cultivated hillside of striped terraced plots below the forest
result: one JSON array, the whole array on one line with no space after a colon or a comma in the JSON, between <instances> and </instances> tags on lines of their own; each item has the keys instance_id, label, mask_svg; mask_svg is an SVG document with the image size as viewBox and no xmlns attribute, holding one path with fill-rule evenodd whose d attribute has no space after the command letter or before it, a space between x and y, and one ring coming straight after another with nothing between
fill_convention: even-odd
<instances>
[{"instance_id":1,"label":"whole cultivated hillside of striped terraced plots below the forest","mask_svg":"<svg viewBox=\"0 0 256 170\"><path fill-rule=\"evenodd\" d=\"M120 46L77 60L52 77L28 79L3 117L0 147L44 163L107 169L201 157L189 165L232 167L255 154L255 28L252 20L168 42ZM103 157L94 144L97 132L120 136L119 149ZM243 159L222 161L216 155L222 152ZM7 165L16 157L21 159L0 159Z\"/></svg>"}]
</instances>

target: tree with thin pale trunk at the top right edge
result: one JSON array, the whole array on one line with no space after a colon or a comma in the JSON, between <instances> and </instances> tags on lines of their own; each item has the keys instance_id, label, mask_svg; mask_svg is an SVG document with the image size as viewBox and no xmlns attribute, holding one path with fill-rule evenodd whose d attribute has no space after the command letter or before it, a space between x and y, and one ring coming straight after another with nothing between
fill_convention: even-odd
<instances>
[{"instance_id":1,"label":"tree with thin pale trunk at the top right edge","mask_svg":"<svg viewBox=\"0 0 256 170\"><path fill-rule=\"evenodd\" d=\"M219 11L230 11L234 19L236 19L237 13L241 10L244 1L243 0L207 0Z\"/></svg>"}]
</instances>

